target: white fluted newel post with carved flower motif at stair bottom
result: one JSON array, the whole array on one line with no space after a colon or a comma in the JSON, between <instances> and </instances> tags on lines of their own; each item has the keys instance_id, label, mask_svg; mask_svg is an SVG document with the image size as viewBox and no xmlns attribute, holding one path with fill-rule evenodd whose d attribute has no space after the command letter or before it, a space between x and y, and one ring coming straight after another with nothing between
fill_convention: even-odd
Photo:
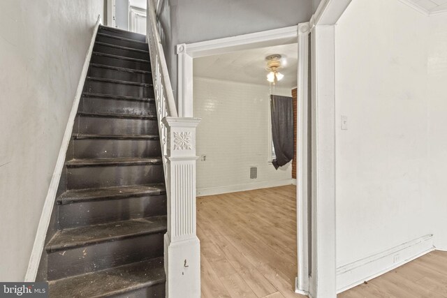
<instances>
[{"instance_id":1,"label":"white fluted newel post with carved flower motif at stair bottom","mask_svg":"<svg viewBox=\"0 0 447 298\"><path fill-rule=\"evenodd\" d=\"M165 117L167 128L165 234L166 297L200 297L200 244L196 236L196 126L198 118Z\"/></svg>"}]
</instances>

